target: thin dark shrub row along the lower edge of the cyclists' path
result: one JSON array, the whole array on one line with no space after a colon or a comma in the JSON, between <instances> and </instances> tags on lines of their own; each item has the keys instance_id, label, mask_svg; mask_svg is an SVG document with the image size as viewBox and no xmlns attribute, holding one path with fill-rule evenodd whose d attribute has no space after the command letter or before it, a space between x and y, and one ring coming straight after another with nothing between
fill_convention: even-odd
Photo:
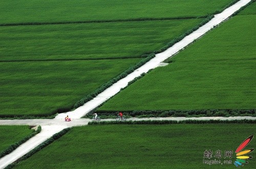
<instances>
[{"instance_id":1,"label":"thin dark shrub row along the lower edge of the cyclists' path","mask_svg":"<svg viewBox=\"0 0 256 169\"><path fill-rule=\"evenodd\" d=\"M141 120L141 121L103 121L89 122L88 125L109 125L109 124L207 124L207 123L249 123L256 124L256 120Z\"/></svg>"}]
</instances>

